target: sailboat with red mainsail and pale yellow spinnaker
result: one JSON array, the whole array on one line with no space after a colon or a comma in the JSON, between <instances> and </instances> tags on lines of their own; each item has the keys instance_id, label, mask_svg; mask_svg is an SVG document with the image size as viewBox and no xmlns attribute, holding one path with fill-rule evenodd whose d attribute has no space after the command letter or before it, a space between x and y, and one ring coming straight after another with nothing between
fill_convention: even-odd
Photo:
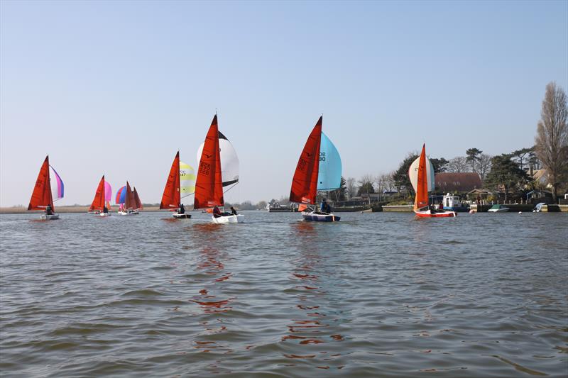
<instances>
[{"instance_id":1,"label":"sailboat with red mainsail and pale yellow spinnaker","mask_svg":"<svg viewBox=\"0 0 568 378\"><path fill-rule=\"evenodd\" d=\"M195 171L190 165L180 162L180 151L178 151L173 159L168 181L165 182L160 209L177 210L178 212L172 215L177 219L191 218L191 214L185 212L181 199L182 194L189 196L193 191L195 191Z\"/></svg>"}]
</instances>

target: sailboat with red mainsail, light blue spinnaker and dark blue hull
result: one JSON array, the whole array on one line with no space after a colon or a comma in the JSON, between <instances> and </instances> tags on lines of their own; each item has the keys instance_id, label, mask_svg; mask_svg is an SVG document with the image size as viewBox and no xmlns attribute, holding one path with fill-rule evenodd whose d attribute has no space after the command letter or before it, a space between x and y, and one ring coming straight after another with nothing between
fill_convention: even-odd
<instances>
[{"instance_id":1,"label":"sailboat with red mainsail, light blue spinnaker and dark blue hull","mask_svg":"<svg viewBox=\"0 0 568 378\"><path fill-rule=\"evenodd\" d=\"M297 162L290 189L290 202L315 206L318 190L329 191L341 186L341 158L332 141L322 133L322 122L323 116L320 116ZM316 222L337 222L341 219L333 213L323 213L316 209L302 211L302 218Z\"/></svg>"}]
</instances>

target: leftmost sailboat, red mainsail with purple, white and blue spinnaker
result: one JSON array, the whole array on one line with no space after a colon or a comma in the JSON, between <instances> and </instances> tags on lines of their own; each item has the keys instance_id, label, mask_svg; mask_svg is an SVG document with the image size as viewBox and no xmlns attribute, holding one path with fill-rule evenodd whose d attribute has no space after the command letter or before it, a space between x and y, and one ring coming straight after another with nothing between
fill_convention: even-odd
<instances>
[{"instance_id":1,"label":"leftmost sailboat, red mainsail with purple, white and blue spinnaker","mask_svg":"<svg viewBox=\"0 0 568 378\"><path fill-rule=\"evenodd\" d=\"M59 214L55 213L55 207L53 206L53 190L51 189L51 179L49 174L49 155L45 157L43 165L41 165L40 172L38 174L38 179L35 180L35 187L31 194L30 204L28 205L28 210L44 210L45 214L40 216L41 219L53 220L59 219ZM57 197L55 201L63 198L64 185L61 177L59 177L58 172L51 167L53 173L55 174L55 180L57 182Z\"/></svg>"}]
</instances>

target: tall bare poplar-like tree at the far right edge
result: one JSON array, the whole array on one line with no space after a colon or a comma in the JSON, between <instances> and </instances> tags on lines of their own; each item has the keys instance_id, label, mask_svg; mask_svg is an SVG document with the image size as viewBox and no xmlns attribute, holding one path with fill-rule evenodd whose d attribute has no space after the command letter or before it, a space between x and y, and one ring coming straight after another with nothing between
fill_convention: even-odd
<instances>
[{"instance_id":1,"label":"tall bare poplar-like tree at the far right edge","mask_svg":"<svg viewBox=\"0 0 568 378\"><path fill-rule=\"evenodd\" d=\"M568 109L566 93L555 82L546 86L540 121L537 124L535 153L548 173L552 198L556 201L558 185L565 179L568 164Z\"/></svg>"}]
</instances>

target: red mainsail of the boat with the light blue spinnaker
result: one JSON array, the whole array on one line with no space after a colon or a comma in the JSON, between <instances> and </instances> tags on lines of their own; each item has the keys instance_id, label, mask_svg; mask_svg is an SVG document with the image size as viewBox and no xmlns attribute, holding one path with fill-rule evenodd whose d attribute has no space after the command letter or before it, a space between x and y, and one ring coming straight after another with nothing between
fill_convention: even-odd
<instances>
[{"instance_id":1,"label":"red mainsail of the boat with the light blue spinnaker","mask_svg":"<svg viewBox=\"0 0 568 378\"><path fill-rule=\"evenodd\" d=\"M292 179L290 201L302 204L315 204L317 194L317 174L320 167L320 142L322 140L322 117L317 121L307 138L296 172Z\"/></svg>"}]
</instances>

